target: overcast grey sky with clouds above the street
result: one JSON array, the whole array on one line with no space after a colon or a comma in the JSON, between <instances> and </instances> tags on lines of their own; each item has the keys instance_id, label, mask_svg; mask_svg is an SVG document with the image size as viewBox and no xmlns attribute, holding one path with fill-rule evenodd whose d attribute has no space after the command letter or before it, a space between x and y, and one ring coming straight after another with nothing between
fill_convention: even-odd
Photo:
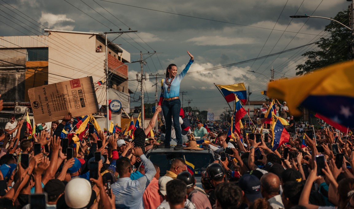
<instances>
[{"instance_id":1,"label":"overcast grey sky with clouds above the street","mask_svg":"<svg viewBox=\"0 0 354 209\"><path fill-rule=\"evenodd\" d=\"M158 54L147 59L147 65L144 66L144 71L149 74L165 74L167 65L171 63L176 64L179 71L183 70L189 60L186 52L189 50L195 61L188 71L190 74L187 74L181 83L181 91L188 92L184 95L184 100L193 100L190 107L213 112L216 117L228 105L213 83L228 85L243 82L246 88L250 86L251 100L264 100L265 96L261 95L261 91L267 90L269 80L265 76L270 77L271 66L275 69L275 79L294 77L296 65L305 61L301 54L314 50L315 47L305 47L232 67L193 72L246 61L318 41L328 35L324 32L324 27L329 20L291 19L289 16L307 14L334 17L337 12L346 10L350 5L346 0L107 1L0 0L0 36L43 35L44 27L30 18L57 30L137 30L136 34L122 35L114 42L122 44L121 47L131 53L132 61L140 58L140 51L148 53L155 50ZM8 4L28 15L30 18L26 19L34 24L21 18L21 13ZM109 37L115 38L113 35ZM265 76L247 70L263 73ZM135 91L138 85L134 80L137 71L140 71L139 64L129 65L129 79L132 80L129 82L129 88L132 91ZM154 84L155 79L146 82L149 98L145 96L145 102L154 102ZM137 91L135 99L138 99L139 95L140 92ZM184 107L188 106L187 101L183 103ZM131 102L131 107L139 105L139 102ZM232 103L230 105L232 106Z\"/></svg>"}]
</instances>

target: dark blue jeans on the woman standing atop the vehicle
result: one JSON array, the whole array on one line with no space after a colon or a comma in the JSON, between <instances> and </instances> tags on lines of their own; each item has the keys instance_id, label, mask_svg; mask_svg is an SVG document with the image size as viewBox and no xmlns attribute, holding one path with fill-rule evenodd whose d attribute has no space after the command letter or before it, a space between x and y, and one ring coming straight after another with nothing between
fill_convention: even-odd
<instances>
[{"instance_id":1,"label":"dark blue jeans on the woman standing atop the vehicle","mask_svg":"<svg viewBox=\"0 0 354 209\"><path fill-rule=\"evenodd\" d=\"M182 132L179 125L179 112L181 112L181 101L179 99L165 101L162 103L162 113L165 118L166 136L164 143L170 145L172 118L173 126L175 127L177 144L182 144Z\"/></svg>"}]
</instances>

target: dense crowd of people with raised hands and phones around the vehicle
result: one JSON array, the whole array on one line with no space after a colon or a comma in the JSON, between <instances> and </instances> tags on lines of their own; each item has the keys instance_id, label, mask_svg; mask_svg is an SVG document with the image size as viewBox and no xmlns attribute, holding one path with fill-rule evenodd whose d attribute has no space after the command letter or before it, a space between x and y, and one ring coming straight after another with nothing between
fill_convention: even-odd
<instances>
[{"instance_id":1,"label":"dense crowd of people with raised hands and phones around the vehicle","mask_svg":"<svg viewBox=\"0 0 354 209\"><path fill-rule=\"evenodd\" d=\"M159 112L160 107L154 117ZM50 129L38 124L34 136L21 136L24 120L11 117L0 131L0 208L354 207L350 131L291 129L289 142L272 150L271 129L260 141L249 131L229 138L223 126L214 123L214 132L208 132L198 120L189 133L201 136L202 147L216 158L202 172L199 188L185 159L173 159L162 177L159 165L147 159L144 153L160 145L161 130L147 139L154 121L136 129L134 140L120 132L87 130L77 144L59 137L66 127L76 130L70 114L53 121Z\"/></svg>"}]
</instances>

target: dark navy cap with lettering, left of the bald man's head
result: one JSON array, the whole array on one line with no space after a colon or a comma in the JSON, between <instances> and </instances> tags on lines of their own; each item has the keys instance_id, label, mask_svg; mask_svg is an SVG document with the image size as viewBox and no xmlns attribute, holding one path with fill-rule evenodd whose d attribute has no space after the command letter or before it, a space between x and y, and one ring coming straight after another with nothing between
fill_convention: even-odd
<instances>
[{"instance_id":1,"label":"dark navy cap with lettering, left of the bald man's head","mask_svg":"<svg viewBox=\"0 0 354 209\"><path fill-rule=\"evenodd\" d=\"M239 179L239 187L245 192L250 202L255 202L256 199L262 198L261 181L255 175L243 175Z\"/></svg>"}]
</instances>

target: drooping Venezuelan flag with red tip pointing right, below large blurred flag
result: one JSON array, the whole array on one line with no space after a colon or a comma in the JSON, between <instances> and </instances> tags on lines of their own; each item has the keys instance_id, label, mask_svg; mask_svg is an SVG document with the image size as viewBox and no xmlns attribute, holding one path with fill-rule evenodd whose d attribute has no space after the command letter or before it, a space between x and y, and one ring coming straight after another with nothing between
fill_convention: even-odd
<instances>
[{"instance_id":1,"label":"drooping Venezuelan flag with red tip pointing right, below large blurred flag","mask_svg":"<svg viewBox=\"0 0 354 209\"><path fill-rule=\"evenodd\" d=\"M272 150L276 150L280 145L289 142L290 134L285 130L284 126L280 123L278 118L273 117L272 122L272 133L273 133L273 142Z\"/></svg>"}]
</instances>

